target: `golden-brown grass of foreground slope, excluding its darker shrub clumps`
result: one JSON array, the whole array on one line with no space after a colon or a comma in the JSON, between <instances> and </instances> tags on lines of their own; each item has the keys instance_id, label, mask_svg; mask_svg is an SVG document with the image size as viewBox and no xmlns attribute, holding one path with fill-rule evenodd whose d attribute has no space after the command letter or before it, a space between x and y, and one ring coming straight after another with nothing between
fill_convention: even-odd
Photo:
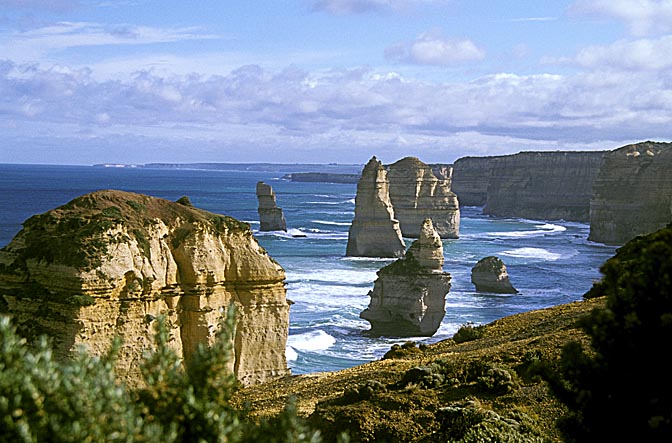
<instances>
[{"instance_id":1,"label":"golden-brown grass of foreground slope, excluding its darker shrub clumps","mask_svg":"<svg viewBox=\"0 0 672 443\"><path fill-rule=\"evenodd\" d=\"M299 414L306 417L320 403L318 413L311 419L327 435L330 428L335 431L347 423L350 429L361 433L362 441L367 441L367 435L371 439L380 438L381 428L395 429L393 438L421 441L437 431L439 423L434 413L439 408L476 400L483 408L502 416L513 410L522 412L534 420L538 435L559 441L555 419L564 409L548 394L545 384L529 377L525 368L531 355L556 361L565 343L586 341L585 334L576 327L576 320L603 304L604 299L599 298L513 315L486 325L482 328L483 336L477 340L459 344L452 339L444 340L424 351L416 348L402 358L374 361L337 372L288 377L244 389L235 401L249 405L252 415L268 417L279 412L293 395ZM485 392L468 380L434 388L398 384L408 369L431 364L439 358L465 371L475 361L496 364L515 374L516 388L498 395ZM346 389L371 380L388 388L364 400L339 399Z\"/></svg>"}]
</instances>

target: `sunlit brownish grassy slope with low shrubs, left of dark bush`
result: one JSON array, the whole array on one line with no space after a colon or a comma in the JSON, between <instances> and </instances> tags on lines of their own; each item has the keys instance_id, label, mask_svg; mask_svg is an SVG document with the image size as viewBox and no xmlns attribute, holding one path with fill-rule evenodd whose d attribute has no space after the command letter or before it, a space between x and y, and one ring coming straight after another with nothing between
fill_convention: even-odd
<instances>
[{"instance_id":1,"label":"sunlit brownish grassy slope with low shrubs, left of dark bush","mask_svg":"<svg viewBox=\"0 0 672 443\"><path fill-rule=\"evenodd\" d=\"M353 441L432 441L437 417L465 405L499 417L501 426L518 423L529 438L519 441L561 441L555 420L566 409L532 368L541 359L559 361L570 341L587 343L577 321L603 305L596 298L513 315L460 334L478 337L471 341L407 343L361 366L246 388L234 401L252 416L271 417L295 397L299 414L326 441L344 430Z\"/></svg>"}]
</instances>

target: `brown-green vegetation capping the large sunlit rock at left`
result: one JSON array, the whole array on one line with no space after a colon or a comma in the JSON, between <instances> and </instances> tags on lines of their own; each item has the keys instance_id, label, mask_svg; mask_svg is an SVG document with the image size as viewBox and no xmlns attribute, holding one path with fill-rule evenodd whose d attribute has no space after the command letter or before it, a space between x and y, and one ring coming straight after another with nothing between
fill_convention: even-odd
<instances>
[{"instance_id":1,"label":"brown-green vegetation capping the large sunlit rock at left","mask_svg":"<svg viewBox=\"0 0 672 443\"><path fill-rule=\"evenodd\" d=\"M109 244L130 240L122 234L109 235L110 229L123 226L149 254L149 229L163 220L174 224L205 222L218 232L250 232L247 223L191 206L188 198L172 202L147 195L118 190L102 190L75 198L63 206L35 215L23 223L17 235L23 246L6 247L19 255L15 261L25 265L29 259L45 260L79 269L100 266Z\"/></svg>"}]
</instances>

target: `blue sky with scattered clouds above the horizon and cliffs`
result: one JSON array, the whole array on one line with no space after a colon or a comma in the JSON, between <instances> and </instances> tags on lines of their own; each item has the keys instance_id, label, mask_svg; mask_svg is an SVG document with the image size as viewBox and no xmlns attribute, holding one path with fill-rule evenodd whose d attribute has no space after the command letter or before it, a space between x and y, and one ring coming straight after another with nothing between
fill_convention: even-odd
<instances>
[{"instance_id":1,"label":"blue sky with scattered clouds above the horizon and cliffs","mask_svg":"<svg viewBox=\"0 0 672 443\"><path fill-rule=\"evenodd\" d=\"M0 0L0 163L672 139L672 0Z\"/></svg>"}]
</instances>

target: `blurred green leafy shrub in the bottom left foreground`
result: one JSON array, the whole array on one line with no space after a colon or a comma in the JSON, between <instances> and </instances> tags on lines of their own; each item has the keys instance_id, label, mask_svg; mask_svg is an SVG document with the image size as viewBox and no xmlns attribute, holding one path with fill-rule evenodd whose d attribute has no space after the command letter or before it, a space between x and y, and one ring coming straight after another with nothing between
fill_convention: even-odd
<instances>
[{"instance_id":1,"label":"blurred green leafy shrub in the bottom left foreground","mask_svg":"<svg viewBox=\"0 0 672 443\"><path fill-rule=\"evenodd\" d=\"M186 370L165 320L155 319L156 350L142 362L139 391L115 377L119 343L103 357L80 352L60 361L45 338L29 347L0 318L0 443L319 442L291 403L261 423L230 406L234 315L229 309L215 343L199 347Z\"/></svg>"}]
</instances>

